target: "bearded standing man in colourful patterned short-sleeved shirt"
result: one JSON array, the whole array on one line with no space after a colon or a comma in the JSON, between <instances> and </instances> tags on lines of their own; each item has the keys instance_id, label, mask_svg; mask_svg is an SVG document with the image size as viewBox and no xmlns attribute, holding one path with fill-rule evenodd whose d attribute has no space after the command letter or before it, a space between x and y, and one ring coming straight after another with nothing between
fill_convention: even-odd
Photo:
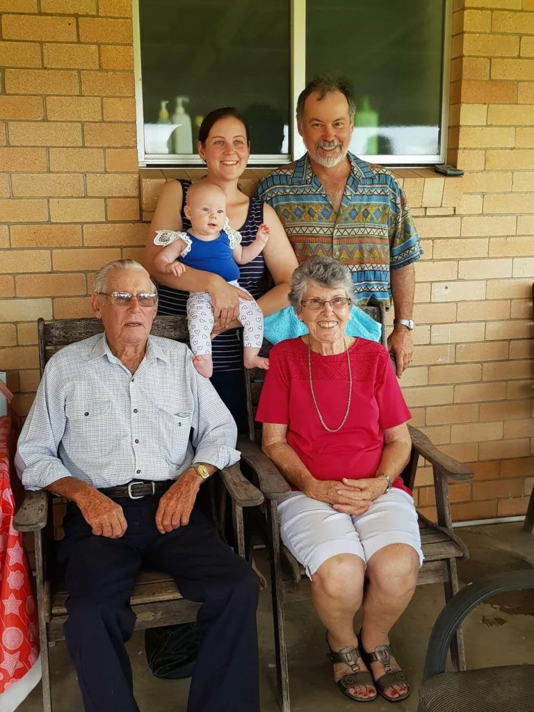
<instances>
[{"instance_id":1,"label":"bearded standing man in colourful patterned short-sleeved shirt","mask_svg":"<svg viewBox=\"0 0 534 712\"><path fill-rule=\"evenodd\" d=\"M414 262L422 255L404 192L385 168L348 151L355 102L345 78L313 79L297 103L298 132L308 152L258 186L273 206L299 262L328 256L352 272L360 306L393 300L387 340L397 376L412 360Z\"/></svg>"}]
</instances>

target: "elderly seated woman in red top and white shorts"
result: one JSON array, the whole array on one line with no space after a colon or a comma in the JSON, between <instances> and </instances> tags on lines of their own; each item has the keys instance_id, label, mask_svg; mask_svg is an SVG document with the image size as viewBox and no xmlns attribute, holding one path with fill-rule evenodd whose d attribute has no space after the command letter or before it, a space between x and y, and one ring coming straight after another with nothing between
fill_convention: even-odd
<instances>
[{"instance_id":1,"label":"elderly seated woman in red top and white shorts","mask_svg":"<svg viewBox=\"0 0 534 712\"><path fill-rule=\"evenodd\" d=\"M289 300L309 333L271 350L257 419L263 451L293 488L278 506L281 538L310 577L337 686L355 701L378 691L397 702L409 684L388 634L423 559L399 477L410 412L384 347L345 335L354 298L350 272L333 259L295 271Z\"/></svg>"}]
</instances>

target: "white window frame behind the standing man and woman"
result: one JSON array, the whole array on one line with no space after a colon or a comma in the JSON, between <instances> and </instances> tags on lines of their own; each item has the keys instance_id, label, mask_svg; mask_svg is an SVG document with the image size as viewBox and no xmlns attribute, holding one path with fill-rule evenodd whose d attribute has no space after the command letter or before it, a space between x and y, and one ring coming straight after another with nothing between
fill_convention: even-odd
<instances>
[{"instance_id":1,"label":"white window frame behind the standing man and woman","mask_svg":"<svg viewBox=\"0 0 534 712\"><path fill-rule=\"evenodd\" d=\"M441 123L439 154L432 155L359 155L365 161L386 166L431 166L446 162L449 135L449 84L451 78L452 10L454 0L445 0L444 32L442 37L443 66L441 70ZM298 133L296 107L298 95L306 84L306 0L290 2L290 116L288 154L251 154L250 167L273 167L293 162L305 153L305 146ZM137 156L140 167L201 167L197 153L194 154L147 154L145 153L145 121L142 100L141 35L139 0L132 0L133 55L135 75L135 107L137 125ZM196 147L194 147L196 150Z\"/></svg>"}]
</instances>

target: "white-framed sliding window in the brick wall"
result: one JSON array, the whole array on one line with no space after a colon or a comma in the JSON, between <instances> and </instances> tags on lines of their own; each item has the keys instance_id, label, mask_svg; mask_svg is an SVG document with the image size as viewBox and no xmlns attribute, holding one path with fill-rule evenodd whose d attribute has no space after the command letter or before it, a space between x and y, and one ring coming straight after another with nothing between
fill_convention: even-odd
<instances>
[{"instance_id":1,"label":"white-framed sliding window in the brick wall","mask_svg":"<svg viewBox=\"0 0 534 712\"><path fill-rule=\"evenodd\" d=\"M355 87L350 150L388 165L446 155L451 0L137 0L142 165L199 164L198 129L220 106L251 128L251 164L304 146L295 105L315 75Z\"/></svg>"}]
</instances>

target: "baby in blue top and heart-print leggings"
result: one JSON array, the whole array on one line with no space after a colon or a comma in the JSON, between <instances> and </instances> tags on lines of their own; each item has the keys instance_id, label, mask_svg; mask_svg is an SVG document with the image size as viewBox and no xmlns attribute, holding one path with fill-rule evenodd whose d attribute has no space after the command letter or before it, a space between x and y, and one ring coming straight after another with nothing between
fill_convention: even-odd
<instances>
[{"instance_id":1,"label":"baby in blue top and heart-print leggings","mask_svg":"<svg viewBox=\"0 0 534 712\"><path fill-rule=\"evenodd\" d=\"M261 224L256 239L241 246L241 234L231 229L226 217L226 195L219 186L206 181L192 184L187 191L184 214L191 221L187 232L159 230L154 244L166 245L155 258L161 272L179 277L190 267L218 274L239 287L239 267L251 262L266 246L270 230ZM178 258L180 261L177 261ZM246 291L246 290L244 290ZM248 292L247 292L248 293ZM258 353L263 342L263 314L252 300L239 299L239 322L243 325L244 365L246 368L268 368L268 359ZM187 300L189 341L194 353L193 365L200 375L211 377L211 331L214 315L207 292L192 292Z\"/></svg>"}]
</instances>

